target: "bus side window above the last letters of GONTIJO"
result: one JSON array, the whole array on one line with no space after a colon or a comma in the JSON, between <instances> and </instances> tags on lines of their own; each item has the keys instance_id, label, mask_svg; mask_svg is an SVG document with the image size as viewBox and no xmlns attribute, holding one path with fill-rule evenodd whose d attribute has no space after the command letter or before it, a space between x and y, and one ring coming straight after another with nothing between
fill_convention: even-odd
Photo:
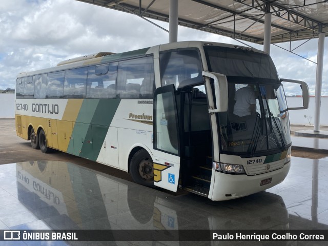
<instances>
[{"instance_id":1,"label":"bus side window above the last letters of GONTIJO","mask_svg":"<svg viewBox=\"0 0 328 246\"><path fill-rule=\"evenodd\" d=\"M64 94L65 71L48 73L46 98L62 98Z\"/></svg>"}]
</instances>

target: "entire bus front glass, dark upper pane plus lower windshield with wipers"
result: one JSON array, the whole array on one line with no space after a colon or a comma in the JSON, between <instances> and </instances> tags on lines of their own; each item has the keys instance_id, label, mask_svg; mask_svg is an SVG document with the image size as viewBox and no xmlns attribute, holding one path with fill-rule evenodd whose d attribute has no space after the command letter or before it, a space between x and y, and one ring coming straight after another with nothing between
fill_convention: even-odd
<instances>
[{"instance_id":1,"label":"entire bus front glass, dark upper pane plus lower windshield with wipers","mask_svg":"<svg viewBox=\"0 0 328 246\"><path fill-rule=\"evenodd\" d=\"M228 111L218 114L221 153L281 152L291 145L282 85L269 55L223 47L206 49L212 72L228 79Z\"/></svg>"}]
</instances>

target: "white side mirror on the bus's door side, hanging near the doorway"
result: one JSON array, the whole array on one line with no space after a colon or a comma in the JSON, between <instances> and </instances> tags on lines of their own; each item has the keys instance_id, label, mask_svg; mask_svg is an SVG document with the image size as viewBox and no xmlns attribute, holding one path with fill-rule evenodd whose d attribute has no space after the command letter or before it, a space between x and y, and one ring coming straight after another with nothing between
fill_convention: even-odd
<instances>
[{"instance_id":1,"label":"white side mirror on the bus's door side, hanging near the doorway","mask_svg":"<svg viewBox=\"0 0 328 246\"><path fill-rule=\"evenodd\" d=\"M227 76L220 73L202 71L205 78L214 79L215 104L216 109L209 109L209 113L219 113L228 111L228 81Z\"/></svg>"}]
</instances>

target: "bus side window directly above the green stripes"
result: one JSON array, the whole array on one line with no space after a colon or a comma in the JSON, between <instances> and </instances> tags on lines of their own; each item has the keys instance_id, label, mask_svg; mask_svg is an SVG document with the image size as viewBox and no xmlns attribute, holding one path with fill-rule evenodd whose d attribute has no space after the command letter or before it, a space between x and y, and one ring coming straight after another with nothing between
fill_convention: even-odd
<instances>
[{"instance_id":1,"label":"bus side window directly above the green stripes","mask_svg":"<svg viewBox=\"0 0 328 246\"><path fill-rule=\"evenodd\" d=\"M89 67L87 98L115 98L116 74L117 62Z\"/></svg>"}]
</instances>

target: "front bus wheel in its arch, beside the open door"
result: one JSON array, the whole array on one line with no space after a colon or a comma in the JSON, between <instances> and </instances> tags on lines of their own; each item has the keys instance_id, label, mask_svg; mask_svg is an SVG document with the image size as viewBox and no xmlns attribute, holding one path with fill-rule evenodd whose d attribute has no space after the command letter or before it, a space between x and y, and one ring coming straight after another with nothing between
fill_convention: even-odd
<instances>
[{"instance_id":1,"label":"front bus wheel in its arch, beside the open door","mask_svg":"<svg viewBox=\"0 0 328 246\"><path fill-rule=\"evenodd\" d=\"M133 181L139 185L155 187L154 163L146 150L139 150L131 158L130 175Z\"/></svg>"}]
</instances>

